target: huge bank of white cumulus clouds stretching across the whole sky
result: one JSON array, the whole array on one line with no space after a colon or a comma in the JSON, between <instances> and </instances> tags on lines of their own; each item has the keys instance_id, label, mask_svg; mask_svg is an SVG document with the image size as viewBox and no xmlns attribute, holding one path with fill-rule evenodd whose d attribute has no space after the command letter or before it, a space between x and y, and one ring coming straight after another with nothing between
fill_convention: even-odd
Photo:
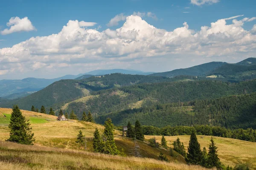
<instances>
[{"instance_id":1,"label":"huge bank of white cumulus clouds stretching across the whole sky","mask_svg":"<svg viewBox=\"0 0 256 170\"><path fill-rule=\"evenodd\" d=\"M31 37L0 49L1 77L17 73L83 73L84 69L99 68L156 68L157 64L158 68L166 64L165 69L171 70L169 64L176 63L177 58L191 62L255 55L256 26L247 31L242 27L246 21L236 17L227 24L226 20L201 26L199 31L189 29L186 22L166 31L138 15L126 17L120 28L104 31L86 28L81 24L83 21L70 20L58 34Z\"/></svg>"}]
</instances>

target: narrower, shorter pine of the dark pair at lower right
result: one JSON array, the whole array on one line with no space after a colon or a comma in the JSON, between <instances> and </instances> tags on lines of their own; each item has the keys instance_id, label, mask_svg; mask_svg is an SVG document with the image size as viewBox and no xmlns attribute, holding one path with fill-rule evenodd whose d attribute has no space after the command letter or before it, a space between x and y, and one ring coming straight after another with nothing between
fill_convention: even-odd
<instances>
[{"instance_id":1,"label":"narrower, shorter pine of the dark pair at lower right","mask_svg":"<svg viewBox=\"0 0 256 170\"><path fill-rule=\"evenodd\" d=\"M218 158L217 148L215 146L214 140L211 138L211 143L209 144L209 152L208 152L208 166L209 167L217 167L217 169L221 169L221 161Z\"/></svg>"}]
</instances>

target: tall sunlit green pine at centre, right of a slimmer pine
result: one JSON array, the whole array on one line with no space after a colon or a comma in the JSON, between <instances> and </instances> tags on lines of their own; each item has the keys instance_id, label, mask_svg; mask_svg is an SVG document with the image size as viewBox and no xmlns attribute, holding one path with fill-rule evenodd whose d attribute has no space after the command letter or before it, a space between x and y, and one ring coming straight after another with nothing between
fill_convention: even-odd
<instances>
[{"instance_id":1,"label":"tall sunlit green pine at centre, right of a slimmer pine","mask_svg":"<svg viewBox=\"0 0 256 170\"><path fill-rule=\"evenodd\" d=\"M110 118L108 118L104 123L105 129L103 135L106 137L104 153L117 155L119 151L116 148L116 143L114 141L114 133L113 133L113 124Z\"/></svg>"}]
</instances>

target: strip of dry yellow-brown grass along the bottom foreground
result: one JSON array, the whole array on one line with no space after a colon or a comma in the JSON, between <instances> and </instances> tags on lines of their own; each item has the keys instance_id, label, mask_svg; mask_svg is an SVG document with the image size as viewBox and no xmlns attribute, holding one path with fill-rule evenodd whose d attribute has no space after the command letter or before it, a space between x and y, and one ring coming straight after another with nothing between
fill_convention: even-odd
<instances>
[{"instance_id":1,"label":"strip of dry yellow-brown grass along the bottom foreground","mask_svg":"<svg viewBox=\"0 0 256 170\"><path fill-rule=\"evenodd\" d=\"M0 141L1 170L198 170L204 168L156 159L110 156L86 151L27 146Z\"/></svg>"}]
</instances>

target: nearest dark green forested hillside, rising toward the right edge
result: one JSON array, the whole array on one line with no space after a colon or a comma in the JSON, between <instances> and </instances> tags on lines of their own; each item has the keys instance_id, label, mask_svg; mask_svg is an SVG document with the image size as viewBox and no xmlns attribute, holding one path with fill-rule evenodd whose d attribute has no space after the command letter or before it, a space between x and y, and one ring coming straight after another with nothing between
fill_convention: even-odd
<instances>
[{"instance_id":1,"label":"nearest dark green forested hillside, rising toward the right edge","mask_svg":"<svg viewBox=\"0 0 256 170\"><path fill-rule=\"evenodd\" d=\"M256 93L143 106L98 116L96 122L102 123L107 117L115 125L140 120L143 125L155 127L212 125L256 129Z\"/></svg>"}]
</instances>

